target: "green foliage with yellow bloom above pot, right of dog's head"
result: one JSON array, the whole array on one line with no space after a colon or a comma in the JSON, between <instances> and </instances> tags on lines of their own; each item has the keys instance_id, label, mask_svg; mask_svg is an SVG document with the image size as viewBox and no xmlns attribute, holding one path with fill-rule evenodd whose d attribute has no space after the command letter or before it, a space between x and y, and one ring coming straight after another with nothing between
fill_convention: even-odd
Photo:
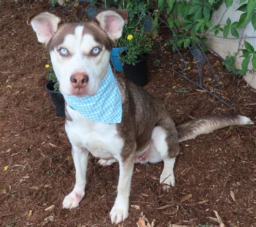
<instances>
[{"instance_id":1,"label":"green foliage with yellow bloom above pot, right of dog's head","mask_svg":"<svg viewBox=\"0 0 256 227\"><path fill-rule=\"evenodd\" d=\"M118 44L127 48L119 55L120 61L134 66L140 57L152 51L153 40L141 23L131 21L125 25L123 36L119 39Z\"/></svg>"}]
</instances>

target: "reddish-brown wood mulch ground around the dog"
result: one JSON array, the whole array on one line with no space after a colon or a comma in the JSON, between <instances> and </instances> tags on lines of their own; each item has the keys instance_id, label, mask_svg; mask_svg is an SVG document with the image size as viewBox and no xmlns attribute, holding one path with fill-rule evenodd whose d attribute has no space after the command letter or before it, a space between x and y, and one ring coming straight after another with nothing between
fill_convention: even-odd
<instances>
[{"instance_id":1,"label":"reddish-brown wood mulch ground around the dog","mask_svg":"<svg viewBox=\"0 0 256 227\"><path fill-rule=\"evenodd\" d=\"M75 183L71 146L65 120L56 116L44 87L49 55L25 23L29 13L49 10L49 5L0 3L0 225L38 226L49 216L48 226L111 225L118 165L101 167L93 156L79 208L62 209ZM69 13L77 11L74 7ZM61 9L53 12L62 16ZM172 73L167 58L151 67L145 89L164 102L177 125L207 114L232 113ZM239 78L237 113L255 122L255 103L255 90ZM224 128L181 143L176 186L167 193L159 184L163 163L136 164L124 226L137 226L142 212L155 226L218 225L214 211L226 225L255 226L255 129Z\"/></svg>"}]
</instances>

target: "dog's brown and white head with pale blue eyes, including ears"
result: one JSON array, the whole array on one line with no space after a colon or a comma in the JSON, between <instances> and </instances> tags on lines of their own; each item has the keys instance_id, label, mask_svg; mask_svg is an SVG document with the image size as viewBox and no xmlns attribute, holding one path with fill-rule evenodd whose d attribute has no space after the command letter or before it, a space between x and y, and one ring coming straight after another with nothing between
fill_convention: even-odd
<instances>
[{"instance_id":1,"label":"dog's brown and white head with pale blue eyes, including ears","mask_svg":"<svg viewBox=\"0 0 256 227\"><path fill-rule=\"evenodd\" d=\"M28 19L38 41L49 51L60 92L95 95L109 65L110 51L122 36L126 10L105 10L92 22L63 23L43 12Z\"/></svg>"}]
</instances>

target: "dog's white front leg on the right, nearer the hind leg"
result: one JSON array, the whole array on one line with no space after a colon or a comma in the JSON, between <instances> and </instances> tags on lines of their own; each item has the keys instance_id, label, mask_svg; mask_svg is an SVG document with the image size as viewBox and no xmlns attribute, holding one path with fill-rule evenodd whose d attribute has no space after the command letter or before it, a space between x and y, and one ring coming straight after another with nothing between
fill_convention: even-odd
<instances>
[{"instance_id":1,"label":"dog's white front leg on the right, nearer the hind leg","mask_svg":"<svg viewBox=\"0 0 256 227\"><path fill-rule=\"evenodd\" d=\"M119 160L119 181L117 187L117 198L110 212L111 222L123 222L129 215L129 196L131 189L131 178L134 166L134 159L128 158L125 161Z\"/></svg>"}]
</instances>

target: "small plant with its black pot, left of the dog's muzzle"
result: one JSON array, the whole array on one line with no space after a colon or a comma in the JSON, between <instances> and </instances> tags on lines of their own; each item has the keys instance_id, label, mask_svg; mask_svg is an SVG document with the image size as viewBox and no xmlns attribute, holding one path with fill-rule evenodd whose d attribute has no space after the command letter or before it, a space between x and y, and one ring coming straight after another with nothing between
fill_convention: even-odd
<instances>
[{"instance_id":1,"label":"small plant with its black pot, left of the dog's muzzle","mask_svg":"<svg viewBox=\"0 0 256 227\"><path fill-rule=\"evenodd\" d=\"M48 68L48 70L50 71L46 75L48 83L45 85L45 88L51 96L57 115L60 117L65 117L65 101L62 93L60 93L59 91L59 84L55 72L49 64L46 64L45 68Z\"/></svg>"}]
</instances>

